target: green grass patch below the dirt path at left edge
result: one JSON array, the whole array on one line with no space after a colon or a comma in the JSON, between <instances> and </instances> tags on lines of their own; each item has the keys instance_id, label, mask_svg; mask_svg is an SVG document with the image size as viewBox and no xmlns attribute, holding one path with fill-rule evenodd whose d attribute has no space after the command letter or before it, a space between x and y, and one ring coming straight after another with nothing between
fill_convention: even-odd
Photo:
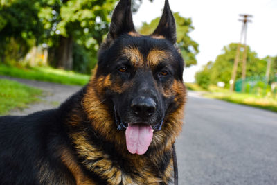
<instances>
[{"instance_id":1,"label":"green grass patch below the dirt path at left edge","mask_svg":"<svg viewBox=\"0 0 277 185\"><path fill-rule=\"evenodd\" d=\"M19 82L0 79L0 115L7 114L11 109L24 109L28 103L39 101L42 90Z\"/></svg>"}]
</instances>

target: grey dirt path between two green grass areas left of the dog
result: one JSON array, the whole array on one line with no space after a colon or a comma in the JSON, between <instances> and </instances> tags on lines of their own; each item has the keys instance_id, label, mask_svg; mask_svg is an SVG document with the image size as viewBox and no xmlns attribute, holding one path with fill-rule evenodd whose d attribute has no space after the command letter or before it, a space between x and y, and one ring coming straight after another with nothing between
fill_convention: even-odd
<instances>
[{"instance_id":1,"label":"grey dirt path between two green grass areas left of the dog","mask_svg":"<svg viewBox=\"0 0 277 185\"><path fill-rule=\"evenodd\" d=\"M0 76L0 78L15 80L17 82L21 82L31 87L37 87L44 91L43 96L40 97L42 99L41 102L30 104L28 105L28 108L23 110L14 109L11 112L9 112L9 115L26 115L26 114L30 114L44 109L53 109L59 106L60 103L64 102L66 98L69 98L69 96L71 96L76 91L82 88L81 86L76 86L76 85L60 85L60 84L51 83L51 82L26 80L26 79L13 78L13 77L7 77L7 76Z\"/></svg>"}]
</instances>

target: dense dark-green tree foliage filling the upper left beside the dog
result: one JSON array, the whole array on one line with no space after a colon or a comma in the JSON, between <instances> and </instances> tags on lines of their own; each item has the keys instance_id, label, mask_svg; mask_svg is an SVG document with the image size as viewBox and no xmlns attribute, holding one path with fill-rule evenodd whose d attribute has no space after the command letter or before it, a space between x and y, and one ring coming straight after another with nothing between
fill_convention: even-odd
<instances>
[{"instance_id":1,"label":"dense dark-green tree foliage filling the upper left beside the dog","mask_svg":"<svg viewBox=\"0 0 277 185\"><path fill-rule=\"evenodd\" d=\"M45 43L48 62L54 67L64 61L60 56L73 55L73 69L89 73L96 64L97 51L108 32L117 1L1 0L0 60L22 60L32 46ZM138 10L141 2L135 0L133 10ZM73 43L68 44L69 49L62 44L64 38Z\"/></svg>"}]
</instances>

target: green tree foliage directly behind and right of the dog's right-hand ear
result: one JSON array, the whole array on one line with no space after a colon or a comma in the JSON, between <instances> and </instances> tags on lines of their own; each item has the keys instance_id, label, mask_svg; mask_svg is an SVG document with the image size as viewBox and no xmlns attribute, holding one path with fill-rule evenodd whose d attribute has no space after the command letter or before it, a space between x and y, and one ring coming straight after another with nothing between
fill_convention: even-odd
<instances>
[{"instance_id":1,"label":"green tree foliage directly behind and right of the dog's right-hand ear","mask_svg":"<svg viewBox=\"0 0 277 185\"><path fill-rule=\"evenodd\" d=\"M176 27L177 27L177 46L181 49L181 53L186 62L186 67L197 64L195 55L199 53L198 44L190 38L188 33L194 30L193 22L190 18L181 17L179 12L174 14ZM143 22L139 32L143 35L150 35L154 32L159 24L159 17L153 19L150 24Z\"/></svg>"}]
</instances>

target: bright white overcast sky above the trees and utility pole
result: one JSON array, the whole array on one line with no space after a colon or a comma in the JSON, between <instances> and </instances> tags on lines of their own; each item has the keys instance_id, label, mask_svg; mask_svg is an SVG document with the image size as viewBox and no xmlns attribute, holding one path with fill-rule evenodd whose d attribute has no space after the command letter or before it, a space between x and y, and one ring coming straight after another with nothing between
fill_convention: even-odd
<instances>
[{"instance_id":1,"label":"bright white overcast sky above the trees and utility pole","mask_svg":"<svg viewBox=\"0 0 277 185\"><path fill-rule=\"evenodd\" d=\"M172 12L193 20L195 30L189 35L199 44L197 65L184 71L184 81L193 82L196 71L215 61L224 46L239 42L242 22L240 14L253 15L247 28L247 44L259 58L277 55L277 0L169 0ZM163 0L143 0L133 15L135 26L161 17Z\"/></svg>"}]
</instances>

